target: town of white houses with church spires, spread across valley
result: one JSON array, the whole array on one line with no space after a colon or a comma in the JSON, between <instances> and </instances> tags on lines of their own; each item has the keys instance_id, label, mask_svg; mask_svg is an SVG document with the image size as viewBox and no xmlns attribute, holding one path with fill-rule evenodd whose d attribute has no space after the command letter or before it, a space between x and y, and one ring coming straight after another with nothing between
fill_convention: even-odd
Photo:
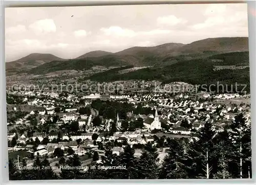
<instances>
[{"instance_id":1,"label":"town of white houses with church spires, spread across valley","mask_svg":"<svg viewBox=\"0 0 256 185\"><path fill-rule=\"evenodd\" d=\"M7 90L9 156L16 163L23 158L28 167L35 157L47 156L48 168L58 176L58 167L73 155L88 171L88 166L102 163L107 148L119 156L128 145L139 158L143 146L151 143L161 164L168 154L164 143L199 140L197 133L205 124L212 125L215 137L230 131L236 116L242 114L250 127L250 95L246 93L159 93L151 87L155 82L136 83L145 85L118 94ZM177 84L184 85L168 87ZM143 91L145 86L147 91Z\"/></svg>"}]
</instances>

